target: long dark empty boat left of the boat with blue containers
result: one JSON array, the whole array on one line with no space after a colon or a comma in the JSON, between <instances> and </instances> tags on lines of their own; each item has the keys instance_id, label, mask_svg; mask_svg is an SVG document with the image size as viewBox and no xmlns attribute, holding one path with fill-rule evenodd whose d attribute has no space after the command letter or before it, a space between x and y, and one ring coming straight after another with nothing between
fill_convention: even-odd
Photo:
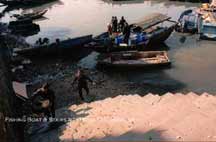
<instances>
[{"instance_id":1,"label":"long dark empty boat left of the boat with blue containers","mask_svg":"<svg viewBox=\"0 0 216 142\"><path fill-rule=\"evenodd\" d=\"M16 53L30 58L76 55L76 51L80 51L81 46L91 41L92 35L86 35L73 39L67 39L59 43L51 43L49 45L34 46L32 48L17 50Z\"/></svg>"}]
</instances>

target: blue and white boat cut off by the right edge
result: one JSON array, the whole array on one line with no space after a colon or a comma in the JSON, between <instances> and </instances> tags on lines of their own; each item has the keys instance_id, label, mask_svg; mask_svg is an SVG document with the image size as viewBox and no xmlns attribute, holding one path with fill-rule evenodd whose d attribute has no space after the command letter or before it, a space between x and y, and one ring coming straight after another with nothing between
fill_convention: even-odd
<instances>
[{"instance_id":1,"label":"blue and white boat cut off by the right edge","mask_svg":"<svg viewBox=\"0 0 216 142\"><path fill-rule=\"evenodd\" d=\"M201 39L216 40L216 17L208 14L208 17L202 17L198 28Z\"/></svg>"}]
</instances>

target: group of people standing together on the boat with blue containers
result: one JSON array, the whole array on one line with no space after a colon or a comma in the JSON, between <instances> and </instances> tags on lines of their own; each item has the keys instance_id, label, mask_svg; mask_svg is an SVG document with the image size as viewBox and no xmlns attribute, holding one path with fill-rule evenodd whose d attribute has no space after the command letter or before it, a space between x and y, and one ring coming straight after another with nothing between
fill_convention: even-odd
<instances>
[{"instance_id":1,"label":"group of people standing together on the boat with blue containers","mask_svg":"<svg viewBox=\"0 0 216 142\"><path fill-rule=\"evenodd\" d=\"M128 43L131 26L127 23L124 16L121 17L119 22L118 18L113 16L111 23L108 24L107 28L109 35L112 35L113 33L122 33L124 35L124 43Z\"/></svg>"}]
</instances>

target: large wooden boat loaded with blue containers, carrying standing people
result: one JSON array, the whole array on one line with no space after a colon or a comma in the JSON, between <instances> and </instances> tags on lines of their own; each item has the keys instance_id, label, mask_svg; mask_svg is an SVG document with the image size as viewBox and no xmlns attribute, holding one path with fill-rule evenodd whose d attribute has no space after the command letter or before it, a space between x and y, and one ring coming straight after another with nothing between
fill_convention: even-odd
<instances>
[{"instance_id":1,"label":"large wooden boat loaded with blue containers, carrying standing people","mask_svg":"<svg viewBox=\"0 0 216 142\"><path fill-rule=\"evenodd\" d=\"M153 13L130 25L129 43L123 42L124 35L121 33L110 36L104 32L96 36L89 46L98 52L150 50L152 45L163 43L173 32L176 22L170 19L166 15Z\"/></svg>"}]
</instances>

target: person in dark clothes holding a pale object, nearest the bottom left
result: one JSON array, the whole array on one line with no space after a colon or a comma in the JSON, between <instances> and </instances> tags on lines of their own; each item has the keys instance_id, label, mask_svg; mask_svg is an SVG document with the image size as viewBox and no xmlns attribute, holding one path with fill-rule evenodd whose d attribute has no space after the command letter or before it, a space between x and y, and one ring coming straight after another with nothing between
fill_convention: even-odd
<instances>
[{"instance_id":1,"label":"person in dark clothes holding a pale object, nearest the bottom left","mask_svg":"<svg viewBox=\"0 0 216 142\"><path fill-rule=\"evenodd\" d=\"M55 93L49 88L48 83L39 88L30 99L33 102L33 112L55 117Z\"/></svg>"}]
</instances>

